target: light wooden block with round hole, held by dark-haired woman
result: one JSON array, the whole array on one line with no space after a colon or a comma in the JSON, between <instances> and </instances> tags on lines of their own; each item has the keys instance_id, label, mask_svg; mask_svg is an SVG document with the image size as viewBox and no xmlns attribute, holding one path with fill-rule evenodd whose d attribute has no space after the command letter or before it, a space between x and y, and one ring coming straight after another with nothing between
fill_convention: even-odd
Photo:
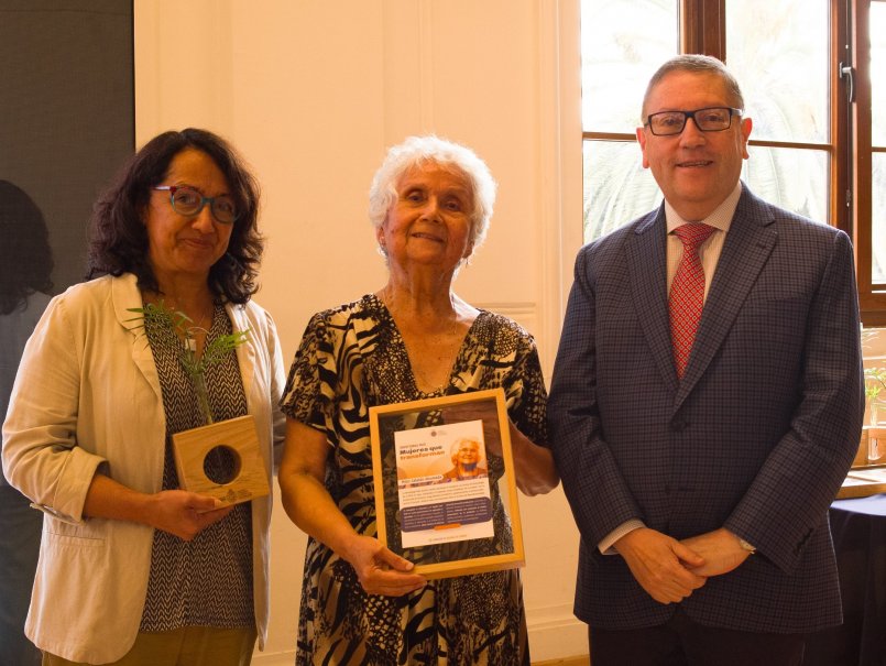
<instances>
[{"instance_id":1,"label":"light wooden block with round hole, held by dark-haired woman","mask_svg":"<svg viewBox=\"0 0 886 666\"><path fill-rule=\"evenodd\" d=\"M249 502L271 493L255 419L251 415L176 433L173 452L178 482L185 490L228 504ZM211 455L232 456L232 478L212 480L207 476L205 466Z\"/></svg>"}]
</instances>

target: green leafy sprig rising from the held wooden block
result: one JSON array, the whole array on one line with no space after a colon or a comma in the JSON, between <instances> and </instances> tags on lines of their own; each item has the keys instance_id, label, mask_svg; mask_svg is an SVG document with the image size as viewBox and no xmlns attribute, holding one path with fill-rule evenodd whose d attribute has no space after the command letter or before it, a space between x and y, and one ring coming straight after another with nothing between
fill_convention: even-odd
<instances>
[{"instance_id":1,"label":"green leafy sprig rising from the held wooden block","mask_svg":"<svg viewBox=\"0 0 886 666\"><path fill-rule=\"evenodd\" d=\"M130 307L128 310L136 313L139 316L127 319L127 321L140 323L136 326L132 326L130 330L141 328L141 335L146 337L145 326L149 324L156 325L173 332L174 337L179 340L181 343L177 349L178 362L194 387L204 423L215 423L212 408L209 405L209 393L206 387L206 370L223 361L228 354L245 342L249 339L250 329L236 330L228 335L218 336L204 347L203 353L199 353L195 331L200 330L200 328L185 313L166 306L163 299L157 303L149 303L144 307Z\"/></svg>"}]
</instances>

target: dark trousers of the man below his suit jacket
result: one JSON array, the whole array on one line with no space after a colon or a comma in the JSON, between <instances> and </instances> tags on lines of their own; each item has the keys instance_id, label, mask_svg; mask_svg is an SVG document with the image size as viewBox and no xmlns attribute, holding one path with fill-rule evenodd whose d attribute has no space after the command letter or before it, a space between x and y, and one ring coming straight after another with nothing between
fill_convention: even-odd
<instances>
[{"instance_id":1,"label":"dark trousers of the man below his suit jacket","mask_svg":"<svg viewBox=\"0 0 886 666\"><path fill-rule=\"evenodd\" d=\"M659 626L610 631L589 627L593 666L800 666L806 634L773 634L704 626L678 607Z\"/></svg>"}]
</instances>

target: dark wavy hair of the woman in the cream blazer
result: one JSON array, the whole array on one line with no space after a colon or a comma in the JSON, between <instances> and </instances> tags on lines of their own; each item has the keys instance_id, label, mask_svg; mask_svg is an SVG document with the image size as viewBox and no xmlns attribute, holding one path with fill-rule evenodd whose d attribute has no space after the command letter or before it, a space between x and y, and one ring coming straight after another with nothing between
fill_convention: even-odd
<instances>
[{"instance_id":1,"label":"dark wavy hair of the woman in the cream blazer","mask_svg":"<svg viewBox=\"0 0 886 666\"><path fill-rule=\"evenodd\" d=\"M151 188L164 182L169 163L186 149L204 152L216 163L238 210L228 251L209 270L209 288L219 298L247 303L259 288L256 277L264 247L258 229L259 183L225 139L194 128L164 132L145 143L96 201L90 220L87 280L134 273L141 288L160 293L149 260L147 230L142 216Z\"/></svg>"}]
</instances>

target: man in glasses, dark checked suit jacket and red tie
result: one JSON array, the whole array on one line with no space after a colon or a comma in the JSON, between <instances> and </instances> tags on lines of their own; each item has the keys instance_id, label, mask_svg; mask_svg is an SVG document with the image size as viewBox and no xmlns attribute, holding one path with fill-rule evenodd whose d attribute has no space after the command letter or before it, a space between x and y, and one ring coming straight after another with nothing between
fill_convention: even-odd
<instances>
[{"instance_id":1,"label":"man in glasses, dark checked suit jacket and red tie","mask_svg":"<svg viewBox=\"0 0 886 666\"><path fill-rule=\"evenodd\" d=\"M801 664L841 622L853 253L740 181L743 108L720 61L663 65L637 139L665 201L576 261L548 415L593 666Z\"/></svg>"}]
</instances>

